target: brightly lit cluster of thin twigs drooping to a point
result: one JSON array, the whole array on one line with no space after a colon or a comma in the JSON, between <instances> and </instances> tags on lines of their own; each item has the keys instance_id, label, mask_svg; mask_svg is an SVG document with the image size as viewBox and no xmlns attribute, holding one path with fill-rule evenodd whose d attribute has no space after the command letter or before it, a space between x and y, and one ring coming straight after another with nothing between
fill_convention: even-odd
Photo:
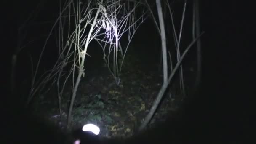
<instances>
[{"instance_id":1,"label":"brightly lit cluster of thin twigs drooping to a point","mask_svg":"<svg viewBox=\"0 0 256 144\"><path fill-rule=\"evenodd\" d=\"M136 30L144 22L145 13L138 14L137 8L140 3L135 1L107 0L107 3L111 3L111 5L108 5L103 13L105 18L102 21L102 25L105 35L104 38L99 37L96 40L102 48L104 53L103 59L112 76L115 78L115 83L119 85L121 81L120 72L125 54ZM119 40L125 33L128 34L128 44L124 46L125 53L122 54L123 50ZM121 52L121 58L118 58L119 51ZM111 53L113 53L113 61L110 61Z\"/></svg>"}]
</instances>

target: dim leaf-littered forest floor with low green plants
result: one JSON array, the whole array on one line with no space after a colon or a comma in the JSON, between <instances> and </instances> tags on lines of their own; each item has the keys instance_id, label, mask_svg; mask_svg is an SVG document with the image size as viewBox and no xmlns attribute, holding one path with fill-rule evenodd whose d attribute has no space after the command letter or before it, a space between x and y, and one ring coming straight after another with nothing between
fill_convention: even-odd
<instances>
[{"instance_id":1,"label":"dim leaf-littered forest floor with low green plants","mask_svg":"<svg viewBox=\"0 0 256 144\"><path fill-rule=\"evenodd\" d=\"M102 61L91 59L78 87L72 112L72 127L82 128L84 124L93 123L99 126L100 136L103 137L133 135L148 114L162 86L163 74L159 64L159 59L157 61L151 56L145 58L140 52L133 51L133 55L125 57L120 73L121 82L116 85L106 65ZM184 68L186 91L189 91L189 86L193 83L194 79L191 77L195 77L194 73L191 67ZM155 122L165 121L181 104L184 95L181 94L178 82L178 78L173 79L148 128ZM61 98L61 118L55 91L51 90L47 96L39 99L37 111L47 112L49 119L64 126L72 95L72 81L65 87Z\"/></svg>"}]
</instances>

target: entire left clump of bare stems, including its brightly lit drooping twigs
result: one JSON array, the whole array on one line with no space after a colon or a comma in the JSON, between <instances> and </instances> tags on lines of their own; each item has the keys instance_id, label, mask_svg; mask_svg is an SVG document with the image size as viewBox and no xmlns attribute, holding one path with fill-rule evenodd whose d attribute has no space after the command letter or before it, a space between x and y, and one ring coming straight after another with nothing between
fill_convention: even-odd
<instances>
[{"instance_id":1,"label":"entire left clump of bare stems, including its brightly lit drooping twigs","mask_svg":"<svg viewBox=\"0 0 256 144\"><path fill-rule=\"evenodd\" d=\"M121 3L123 2L123 3ZM133 5L129 4L129 1L119 0L88 0L87 3L83 3L81 0L68 0L62 3L60 0L59 16L56 19L53 27L51 28L48 37L43 45L43 50L40 53L37 66L35 68L35 74L33 75L32 87L29 97L27 99L27 105L31 103L32 98L36 93L40 93L43 89L49 89L56 83L58 100L59 100L59 112L61 110L61 98L69 77L72 77L72 97L69 104L67 128L69 128L72 117L72 109L75 101L77 88L80 84L82 76L85 75L85 60L87 54L88 45L92 40L97 40L104 52L111 53L113 51L113 69L112 74L115 77L116 83L120 82L120 71L123 64L124 56L127 51L128 45L125 48L125 53L122 54L122 62L117 63L117 53L120 46L120 37L128 32L129 43L136 32L136 29L144 21L144 17L136 15L136 8L139 3L133 2ZM46 71L38 78L38 69L40 61L43 56L43 52L46 48L50 35L57 28L58 32L58 47L59 57L51 70ZM100 38L101 36L104 38ZM107 49L105 46L109 44ZM105 45L105 46L103 46ZM105 61L109 63L110 55L105 56ZM72 64L72 67L68 72L64 72L64 68L68 64ZM61 83L61 79L64 79L64 83Z\"/></svg>"}]
</instances>

